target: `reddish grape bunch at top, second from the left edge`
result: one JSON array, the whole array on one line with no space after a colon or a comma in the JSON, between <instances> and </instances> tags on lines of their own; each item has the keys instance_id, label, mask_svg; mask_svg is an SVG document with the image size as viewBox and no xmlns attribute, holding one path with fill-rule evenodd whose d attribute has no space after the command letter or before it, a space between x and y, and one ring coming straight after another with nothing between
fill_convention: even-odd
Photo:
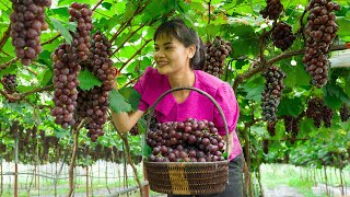
<instances>
[{"instance_id":1,"label":"reddish grape bunch at top, second from the left edge","mask_svg":"<svg viewBox=\"0 0 350 197\"><path fill-rule=\"evenodd\" d=\"M92 10L89 9L88 4L83 3L72 3L71 8L68 9L70 14L69 21L77 22L77 32L71 33L72 50L77 53L79 59L84 61L88 59L90 44L90 31L93 28L92 24Z\"/></svg>"}]
</instances>

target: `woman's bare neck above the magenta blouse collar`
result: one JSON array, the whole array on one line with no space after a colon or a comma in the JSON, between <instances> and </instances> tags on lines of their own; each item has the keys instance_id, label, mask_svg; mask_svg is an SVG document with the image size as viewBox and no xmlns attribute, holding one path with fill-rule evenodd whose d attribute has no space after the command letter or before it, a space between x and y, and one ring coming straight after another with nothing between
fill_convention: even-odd
<instances>
[{"instance_id":1,"label":"woman's bare neck above the magenta blouse collar","mask_svg":"<svg viewBox=\"0 0 350 197\"><path fill-rule=\"evenodd\" d=\"M167 79L172 88L194 86L196 77L194 70L186 69L175 74L167 76Z\"/></svg>"}]
</instances>

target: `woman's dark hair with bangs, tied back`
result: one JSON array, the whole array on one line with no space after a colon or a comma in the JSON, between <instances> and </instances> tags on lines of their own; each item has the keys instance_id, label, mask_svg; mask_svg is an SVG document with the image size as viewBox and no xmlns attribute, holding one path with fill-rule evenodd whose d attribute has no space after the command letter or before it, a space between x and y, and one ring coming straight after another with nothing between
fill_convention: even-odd
<instances>
[{"instance_id":1,"label":"woman's dark hair with bangs, tied back","mask_svg":"<svg viewBox=\"0 0 350 197\"><path fill-rule=\"evenodd\" d=\"M174 36L183 43L185 47L196 46L196 54L190 59L189 65L194 70L202 70L206 61L206 48L201 38L194 28L188 27L180 19L173 19L162 23L155 31L153 40L155 42L161 35Z\"/></svg>"}]
</instances>

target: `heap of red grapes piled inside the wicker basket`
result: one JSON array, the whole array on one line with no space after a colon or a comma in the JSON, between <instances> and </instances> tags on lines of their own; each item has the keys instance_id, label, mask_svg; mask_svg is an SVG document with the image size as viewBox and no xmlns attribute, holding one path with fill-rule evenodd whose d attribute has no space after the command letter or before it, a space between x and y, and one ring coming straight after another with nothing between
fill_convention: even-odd
<instances>
[{"instance_id":1,"label":"heap of red grapes piled inside the wicker basket","mask_svg":"<svg viewBox=\"0 0 350 197\"><path fill-rule=\"evenodd\" d=\"M153 149L152 162L223 161L224 141L212 121L188 118L185 121L158 124L147 134Z\"/></svg>"}]
</instances>

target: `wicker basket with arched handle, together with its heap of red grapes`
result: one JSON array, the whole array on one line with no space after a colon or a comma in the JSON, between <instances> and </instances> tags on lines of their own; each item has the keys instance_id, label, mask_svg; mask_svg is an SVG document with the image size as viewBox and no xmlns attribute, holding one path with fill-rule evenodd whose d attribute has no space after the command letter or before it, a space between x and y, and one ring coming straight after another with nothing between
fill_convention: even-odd
<instances>
[{"instance_id":1,"label":"wicker basket with arched handle, together with its heap of red grapes","mask_svg":"<svg viewBox=\"0 0 350 197\"><path fill-rule=\"evenodd\" d=\"M196 88L168 90L150 107L150 113L154 113L156 104L166 94L177 90L194 90L210 99L223 118L228 136L228 125L220 105ZM189 117L185 121L158 123L154 128L150 128L150 121L151 116L145 136L151 153L143 161L143 166L152 190L174 195L209 195L225 189L229 162L224 154L228 147L212 121Z\"/></svg>"}]
</instances>

